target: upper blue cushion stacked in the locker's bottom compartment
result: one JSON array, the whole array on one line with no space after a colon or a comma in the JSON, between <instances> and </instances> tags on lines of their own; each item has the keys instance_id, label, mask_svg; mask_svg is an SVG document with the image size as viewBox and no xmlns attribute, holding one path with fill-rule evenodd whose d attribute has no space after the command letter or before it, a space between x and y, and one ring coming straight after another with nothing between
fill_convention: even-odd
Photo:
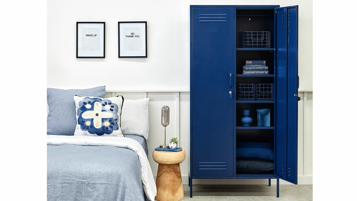
<instances>
[{"instance_id":1,"label":"upper blue cushion stacked in the locker's bottom compartment","mask_svg":"<svg viewBox=\"0 0 357 201\"><path fill-rule=\"evenodd\" d=\"M242 159L273 161L273 144L265 142L237 142L236 156Z\"/></svg>"}]
</instances>

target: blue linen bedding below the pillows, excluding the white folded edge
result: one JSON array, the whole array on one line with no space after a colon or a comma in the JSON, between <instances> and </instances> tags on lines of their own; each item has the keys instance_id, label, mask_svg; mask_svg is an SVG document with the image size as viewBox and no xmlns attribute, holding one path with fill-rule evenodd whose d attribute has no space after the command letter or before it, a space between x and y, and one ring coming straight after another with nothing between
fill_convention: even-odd
<instances>
[{"instance_id":1,"label":"blue linen bedding below the pillows, excluding the white folded edge","mask_svg":"<svg viewBox=\"0 0 357 201\"><path fill-rule=\"evenodd\" d=\"M144 138L126 137L147 155ZM47 145L47 200L146 200L138 155L113 146Z\"/></svg>"}]
</instances>

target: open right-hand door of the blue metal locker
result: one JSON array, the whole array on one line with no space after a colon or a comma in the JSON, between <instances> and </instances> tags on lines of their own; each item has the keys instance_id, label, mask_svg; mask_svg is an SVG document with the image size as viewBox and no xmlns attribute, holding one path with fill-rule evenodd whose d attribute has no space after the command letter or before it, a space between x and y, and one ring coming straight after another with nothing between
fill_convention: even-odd
<instances>
[{"instance_id":1,"label":"open right-hand door of the blue metal locker","mask_svg":"<svg viewBox=\"0 0 357 201\"><path fill-rule=\"evenodd\" d=\"M298 6L275 9L275 169L297 184Z\"/></svg>"}]
</instances>

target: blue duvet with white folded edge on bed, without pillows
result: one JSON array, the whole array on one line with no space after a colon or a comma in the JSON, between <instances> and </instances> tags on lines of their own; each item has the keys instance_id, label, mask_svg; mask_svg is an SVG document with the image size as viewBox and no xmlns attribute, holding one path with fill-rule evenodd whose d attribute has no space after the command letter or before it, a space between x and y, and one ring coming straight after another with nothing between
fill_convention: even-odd
<instances>
[{"instance_id":1,"label":"blue duvet with white folded edge on bed, without pillows","mask_svg":"<svg viewBox=\"0 0 357 201\"><path fill-rule=\"evenodd\" d=\"M47 200L154 200L145 138L47 136Z\"/></svg>"}]
</instances>

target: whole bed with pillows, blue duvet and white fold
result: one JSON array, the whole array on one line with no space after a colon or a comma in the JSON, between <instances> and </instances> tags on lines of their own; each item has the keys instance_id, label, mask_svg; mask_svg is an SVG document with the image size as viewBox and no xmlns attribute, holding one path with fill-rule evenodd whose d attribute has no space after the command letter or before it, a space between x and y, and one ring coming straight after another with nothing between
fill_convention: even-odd
<instances>
[{"instance_id":1,"label":"whole bed with pillows, blue duvet and white fold","mask_svg":"<svg viewBox=\"0 0 357 201\"><path fill-rule=\"evenodd\" d=\"M47 88L47 200L154 201L149 98L105 93Z\"/></svg>"}]
</instances>

